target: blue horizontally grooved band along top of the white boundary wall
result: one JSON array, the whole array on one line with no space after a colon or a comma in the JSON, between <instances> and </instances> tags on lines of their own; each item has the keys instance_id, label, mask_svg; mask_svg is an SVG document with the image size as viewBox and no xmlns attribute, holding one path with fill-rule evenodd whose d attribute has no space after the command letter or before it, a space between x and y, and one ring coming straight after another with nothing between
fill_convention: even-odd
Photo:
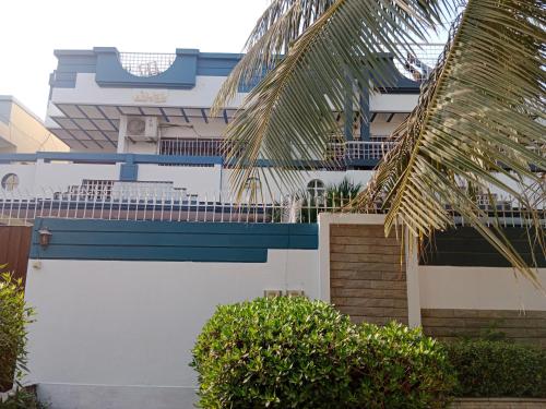
<instances>
[{"instance_id":1,"label":"blue horizontally grooved band along top of the white boundary wall","mask_svg":"<svg viewBox=\"0 0 546 409\"><path fill-rule=\"evenodd\" d=\"M318 226L38 218L31 258L265 263L269 249L316 250Z\"/></svg>"}]
</instances>

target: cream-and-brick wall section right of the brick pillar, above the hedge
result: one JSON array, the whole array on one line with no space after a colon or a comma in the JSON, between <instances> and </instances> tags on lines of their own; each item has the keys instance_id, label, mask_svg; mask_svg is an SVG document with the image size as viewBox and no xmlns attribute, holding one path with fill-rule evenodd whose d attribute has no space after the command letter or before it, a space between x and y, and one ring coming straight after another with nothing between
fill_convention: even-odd
<instances>
[{"instance_id":1,"label":"cream-and-brick wall section right of the brick pillar, above the hedge","mask_svg":"<svg viewBox=\"0 0 546 409\"><path fill-rule=\"evenodd\" d=\"M450 340L497 333L546 347L546 296L511 268L419 266L422 325ZM538 270L546 284L546 268Z\"/></svg>"}]
</instances>

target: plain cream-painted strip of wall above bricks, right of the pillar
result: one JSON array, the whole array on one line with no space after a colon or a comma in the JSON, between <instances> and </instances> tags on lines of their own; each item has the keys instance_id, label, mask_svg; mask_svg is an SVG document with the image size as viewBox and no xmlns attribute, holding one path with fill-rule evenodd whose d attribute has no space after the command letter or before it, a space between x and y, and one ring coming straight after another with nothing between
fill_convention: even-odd
<instances>
[{"instance_id":1,"label":"plain cream-painted strip of wall above bricks, right of the pillar","mask_svg":"<svg viewBox=\"0 0 546 409\"><path fill-rule=\"evenodd\" d=\"M512 268L418 266L422 309L546 311L546 293ZM538 269L546 286L546 268Z\"/></svg>"}]
</instances>

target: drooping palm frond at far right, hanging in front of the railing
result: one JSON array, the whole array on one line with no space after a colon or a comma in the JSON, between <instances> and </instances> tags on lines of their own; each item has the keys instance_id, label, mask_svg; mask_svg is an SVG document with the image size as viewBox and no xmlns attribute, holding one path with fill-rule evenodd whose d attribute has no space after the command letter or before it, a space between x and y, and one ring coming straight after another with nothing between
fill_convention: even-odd
<instances>
[{"instance_id":1,"label":"drooping palm frond at far right, hanging in front of the railing","mask_svg":"<svg viewBox=\"0 0 546 409\"><path fill-rule=\"evenodd\" d=\"M498 217L488 226L461 184L519 203L546 255L536 195L527 194L544 183L533 168L546 169L544 5L468 0L417 107L395 131L396 146L359 199L361 209L383 203L387 231L402 221L416 237L452 225L450 205L536 285Z\"/></svg>"}]
</instances>

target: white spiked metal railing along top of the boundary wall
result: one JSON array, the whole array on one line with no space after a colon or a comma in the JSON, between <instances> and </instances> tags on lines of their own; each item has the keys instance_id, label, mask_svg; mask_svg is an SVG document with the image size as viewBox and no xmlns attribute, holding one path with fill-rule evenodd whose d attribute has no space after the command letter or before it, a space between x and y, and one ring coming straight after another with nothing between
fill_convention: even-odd
<instances>
[{"instance_id":1,"label":"white spiked metal railing along top of the boundary wall","mask_svg":"<svg viewBox=\"0 0 546 409\"><path fill-rule=\"evenodd\" d=\"M490 197L490 196L488 196ZM39 194L0 190L0 225L32 224L37 217L106 220L168 220L218 222L317 222L320 213L352 213L354 197L323 192L280 195L268 200L229 194L197 194L178 189L87 190L72 187L68 191L43 189ZM532 225L529 212L508 201L477 197L478 206L489 215L486 221L502 226ZM376 213L382 213L379 206ZM450 212L455 225L467 225ZM546 226L546 210L539 210Z\"/></svg>"}]
</instances>

